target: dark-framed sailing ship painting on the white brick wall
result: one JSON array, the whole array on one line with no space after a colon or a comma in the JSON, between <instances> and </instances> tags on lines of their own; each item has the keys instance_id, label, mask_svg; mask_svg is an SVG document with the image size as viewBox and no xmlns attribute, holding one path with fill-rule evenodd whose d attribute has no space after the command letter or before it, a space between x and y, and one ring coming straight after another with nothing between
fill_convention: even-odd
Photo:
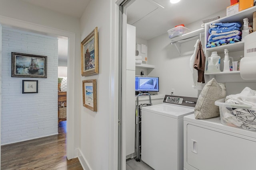
<instances>
[{"instance_id":1,"label":"dark-framed sailing ship painting on the white brick wall","mask_svg":"<svg viewBox=\"0 0 256 170\"><path fill-rule=\"evenodd\" d=\"M11 76L47 78L47 56L12 52Z\"/></svg>"}]
</instances>

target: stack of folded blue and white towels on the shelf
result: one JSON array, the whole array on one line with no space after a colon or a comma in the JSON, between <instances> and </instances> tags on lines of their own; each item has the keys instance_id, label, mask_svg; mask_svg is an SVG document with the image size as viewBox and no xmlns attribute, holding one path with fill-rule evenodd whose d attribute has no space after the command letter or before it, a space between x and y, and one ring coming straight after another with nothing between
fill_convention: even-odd
<instances>
[{"instance_id":1,"label":"stack of folded blue and white towels on the shelf","mask_svg":"<svg viewBox=\"0 0 256 170\"><path fill-rule=\"evenodd\" d=\"M211 23L206 48L235 43L242 39L242 25L239 22L233 23Z\"/></svg>"}]
</instances>

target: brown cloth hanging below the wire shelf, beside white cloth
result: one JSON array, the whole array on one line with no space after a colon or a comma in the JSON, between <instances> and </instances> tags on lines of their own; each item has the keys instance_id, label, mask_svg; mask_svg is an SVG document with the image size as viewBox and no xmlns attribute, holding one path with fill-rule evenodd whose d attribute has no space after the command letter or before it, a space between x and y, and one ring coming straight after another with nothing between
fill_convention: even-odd
<instances>
[{"instance_id":1,"label":"brown cloth hanging below the wire shelf, beside white cloth","mask_svg":"<svg viewBox=\"0 0 256 170\"><path fill-rule=\"evenodd\" d=\"M197 82L204 82L204 66L205 66L205 55L202 48L201 41L199 42L199 47L196 51L196 58L194 62L194 68L198 70L198 80Z\"/></svg>"}]
</instances>

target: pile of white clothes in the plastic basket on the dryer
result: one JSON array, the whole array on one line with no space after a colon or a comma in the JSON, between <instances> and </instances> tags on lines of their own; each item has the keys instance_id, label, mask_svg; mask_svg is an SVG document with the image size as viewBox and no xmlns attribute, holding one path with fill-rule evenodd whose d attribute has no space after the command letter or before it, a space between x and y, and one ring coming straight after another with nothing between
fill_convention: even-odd
<instances>
[{"instance_id":1,"label":"pile of white clothes in the plastic basket on the dryer","mask_svg":"<svg viewBox=\"0 0 256 170\"><path fill-rule=\"evenodd\" d=\"M236 108L226 108L222 118L227 124L256 131L256 90L244 88L240 94L226 96L225 103ZM244 105L244 106L239 106Z\"/></svg>"}]
</instances>

